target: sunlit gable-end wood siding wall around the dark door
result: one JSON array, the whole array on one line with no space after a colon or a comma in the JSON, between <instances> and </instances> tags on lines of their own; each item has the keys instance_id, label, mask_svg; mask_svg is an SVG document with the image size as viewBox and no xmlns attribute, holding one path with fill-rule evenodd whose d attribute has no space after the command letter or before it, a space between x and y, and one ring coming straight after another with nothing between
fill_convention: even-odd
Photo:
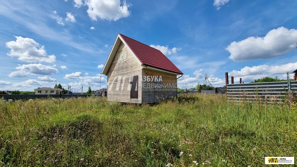
<instances>
[{"instance_id":1,"label":"sunlit gable-end wood siding wall around the dark door","mask_svg":"<svg viewBox=\"0 0 297 167\"><path fill-rule=\"evenodd\" d=\"M118 53L127 51L127 61L118 62ZM121 42L116 55L107 72L107 100L118 101L124 103L142 103L141 101L141 72L142 66L138 63L132 53ZM138 75L138 99L130 98L130 76ZM126 76L123 84L123 77ZM117 89L118 78L121 77L120 84ZM112 84L113 83L113 84ZM112 85L112 86L111 86ZM110 89L111 88L111 89ZM122 89L123 88L123 89ZM129 89L128 89L129 88Z\"/></svg>"}]
</instances>

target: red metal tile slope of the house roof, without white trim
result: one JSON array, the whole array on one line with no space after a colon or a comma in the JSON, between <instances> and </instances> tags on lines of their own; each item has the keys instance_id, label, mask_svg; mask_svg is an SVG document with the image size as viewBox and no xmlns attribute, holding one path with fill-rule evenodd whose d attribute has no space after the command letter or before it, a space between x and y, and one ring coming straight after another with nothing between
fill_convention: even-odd
<instances>
[{"instance_id":1,"label":"red metal tile slope of the house roof, without white trim","mask_svg":"<svg viewBox=\"0 0 297 167\"><path fill-rule=\"evenodd\" d=\"M141 64L183 74L161 51L120 34Z\"/></svg>"}]
</instances>

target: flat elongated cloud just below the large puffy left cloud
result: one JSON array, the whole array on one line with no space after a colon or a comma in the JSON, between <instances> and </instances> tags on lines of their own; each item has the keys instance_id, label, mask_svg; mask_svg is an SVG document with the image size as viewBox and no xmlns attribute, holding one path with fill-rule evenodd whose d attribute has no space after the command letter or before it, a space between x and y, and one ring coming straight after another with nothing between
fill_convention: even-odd
<instances>
[{"instance_id":1,"label":"flat elongated cloud just below the large puffy left cloud","mask_svg":"<svg viewBox=\"0 0 297 167\"><path fill-rule=\"evenodd\" d=\"M56 74L59 72L58 69L50 66L46 66L43 64L18 64L18 67L15 67L15 69L20 71L27 71L31 74L37 74L37 75L51 75Z\"/></svg>"}]
</instances>

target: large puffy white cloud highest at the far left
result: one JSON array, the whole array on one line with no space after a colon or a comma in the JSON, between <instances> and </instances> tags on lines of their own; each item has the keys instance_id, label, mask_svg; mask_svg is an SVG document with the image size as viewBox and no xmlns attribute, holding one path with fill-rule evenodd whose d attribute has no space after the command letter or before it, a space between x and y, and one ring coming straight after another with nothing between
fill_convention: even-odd
<instances>
[{"instance_id":1,"label":"large puffy white cloud highest at the far left","mask_svg":"<svg viewBox=\"0 0 297 167\"><path fill-rule=\"evenodd\" d=\"M48 55L44 46L40 46L31 38L15 36L16 41L6 42L6 47L10 48L8 56L16 56L18 60L25 62L56 62L55 55Z\"/></svg>"}]
</instances>

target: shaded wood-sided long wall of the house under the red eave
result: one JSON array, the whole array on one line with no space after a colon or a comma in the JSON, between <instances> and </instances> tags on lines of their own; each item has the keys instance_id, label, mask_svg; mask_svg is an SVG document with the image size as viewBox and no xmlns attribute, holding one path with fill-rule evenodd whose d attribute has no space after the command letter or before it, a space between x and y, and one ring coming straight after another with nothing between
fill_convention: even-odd
<instances>
[{"instance_id":1,"label":"shaded wood-sided long wall of the house under the red eave","mask_svg":"<svg viewBox=\"0 0 297 167\"><path fill-rule=\"evenodd\" d=\"M170 87L169 84L176 84L176 75L163 73L159 71L150 70L147 68L142 69L144 76L162 76L162 88L149 88L148 84L153 84L155 81L144 81L143 78L143 92L142 92L142 103L156 103L160 100L167 100L177 95L177 85ZM168 83L168 85L167 85ZM166 86L167 85L167 86Z\"/></svg>"}]
</instances>

